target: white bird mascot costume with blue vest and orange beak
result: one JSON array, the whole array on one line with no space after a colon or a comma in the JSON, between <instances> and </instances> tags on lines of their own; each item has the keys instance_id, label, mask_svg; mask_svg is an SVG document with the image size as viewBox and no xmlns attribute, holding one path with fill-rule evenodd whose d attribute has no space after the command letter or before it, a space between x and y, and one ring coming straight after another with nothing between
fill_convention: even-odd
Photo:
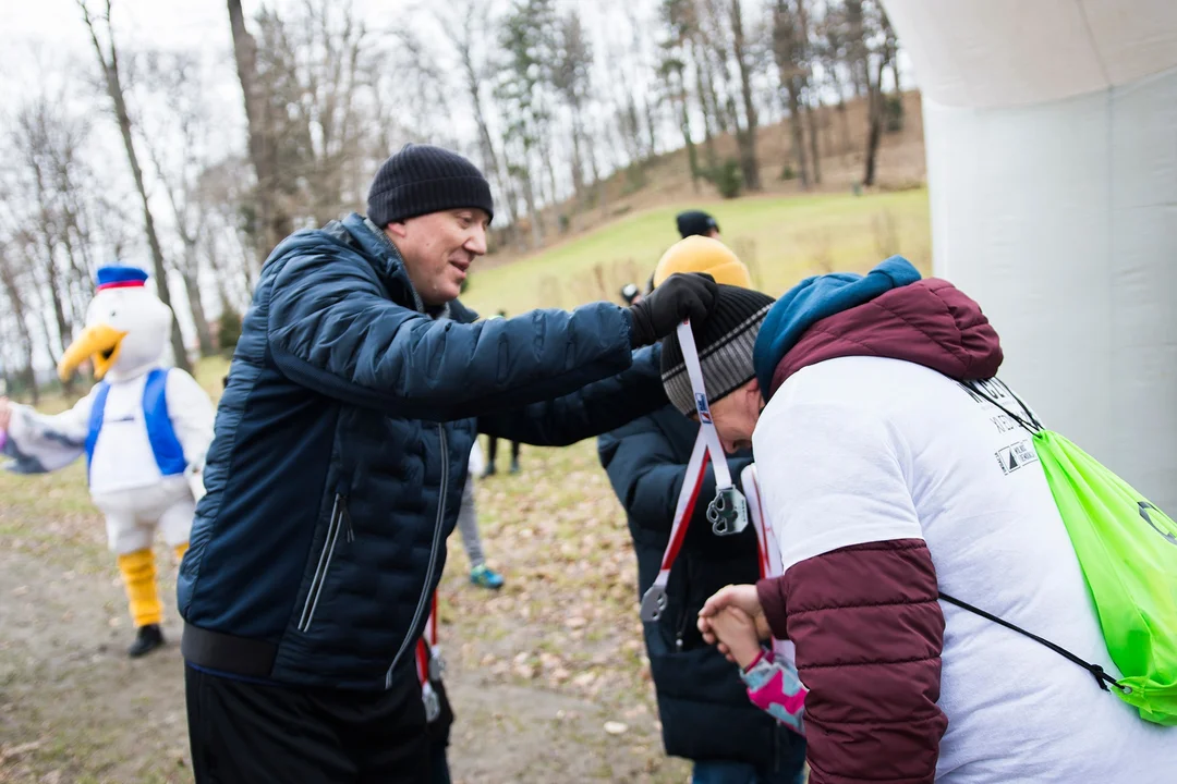
<instances>
[{"instance_id":1,"label":"white bird mascot costume with blue vest and orange beak","mask_svg":"<svg viewBox=\"0 0 1177 784\"><path fill-rule=\"evenodd\" d=\"M188 547L200 470L213 436L213 404L195 378L164 366L172 311L133 267L98 270L86 328L58 364L62 378L85 360L98 383L62 414L47 416L6 403L2 451L8 469L42 474L86 455L91 498L106 515L106 534L127 591L142 656L164 644L164 605L155 585L155 529L178 558Z\"/></svg>"}]
</instances>

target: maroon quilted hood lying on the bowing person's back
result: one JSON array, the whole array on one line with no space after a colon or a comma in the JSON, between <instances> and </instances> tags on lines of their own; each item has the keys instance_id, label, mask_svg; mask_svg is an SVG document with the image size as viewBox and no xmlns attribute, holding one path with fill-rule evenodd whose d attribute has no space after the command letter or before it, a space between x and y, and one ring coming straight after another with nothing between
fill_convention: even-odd
<instances>
[{"instance_id":1,"label":"maroon quilted hood lying on the bowing person's back","mask_svg":"<svg viewBox=\"0 0 1177 784\"><path fill-rule=\"evenodd\" d=\"M991 378L1003 359L980 306L933 277L813 323L777 362L765 397L798 370L843 356L905 360L957 381Z\"/></svg>"}]
</instances>

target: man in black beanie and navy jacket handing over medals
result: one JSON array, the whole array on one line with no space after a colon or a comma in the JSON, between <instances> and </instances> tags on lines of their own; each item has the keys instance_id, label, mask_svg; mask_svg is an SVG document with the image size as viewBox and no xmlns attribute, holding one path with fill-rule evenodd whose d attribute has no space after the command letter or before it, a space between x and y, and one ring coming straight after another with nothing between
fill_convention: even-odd
<instances>
[{"instance_id":1,"label":"man in black beanie and navy jacket handing over medals","mask_svg":"<svg viewBox=\"0 0 1177 784\"><path fill-rule=\"evenodd\" d=\"M714 282L476 323L457 296L492 215L470 161L408 145L367 217L262 267L180 568L198 783L428 782L413 650L478 431L566 444L665 406L634 349Z\"/></svg>"}]
</instances>

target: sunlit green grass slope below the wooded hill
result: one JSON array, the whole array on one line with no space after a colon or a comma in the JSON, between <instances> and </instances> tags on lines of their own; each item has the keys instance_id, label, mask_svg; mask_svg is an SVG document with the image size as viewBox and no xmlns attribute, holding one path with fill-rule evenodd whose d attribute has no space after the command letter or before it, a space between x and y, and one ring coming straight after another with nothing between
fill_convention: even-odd
<instances>
[{"instance_id":1,"label":"sunlit green grass slope below the wooded hill","mask_svg":"<svg viewBox=\"0 0 1177 784\"><path fill-rule=\"evenodd\" d=\"M501 267L476 272L463 301L490 315L543 307L572 308L618 300L626 282L644 284L678 234L674 215L687 207L712 213L723 240L773 296L827 272L865 272L898 253L931 267L927 192L878 195L739 199L659 207L625 217Z\"/></svg>"}]
</instances>

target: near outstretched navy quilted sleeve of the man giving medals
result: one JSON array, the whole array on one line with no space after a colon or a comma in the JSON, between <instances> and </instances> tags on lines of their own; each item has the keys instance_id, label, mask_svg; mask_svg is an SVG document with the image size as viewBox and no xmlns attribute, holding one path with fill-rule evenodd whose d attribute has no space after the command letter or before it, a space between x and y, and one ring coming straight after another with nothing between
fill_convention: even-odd
<instances>
[{"instance_id":1,"label":"near outstretched navy quilted sleeve of the man giving medals","mask_svg":"<svg viewBox=\"0 0 1177 784\"><path fill-rule=\"evenodd\" d=\"M472 324L387 299L334 254L277 270L270 350L291 380L355 406L448 421L558 397L631 364L631 319L598 303Z\"/></svg>"}]
</instances>

